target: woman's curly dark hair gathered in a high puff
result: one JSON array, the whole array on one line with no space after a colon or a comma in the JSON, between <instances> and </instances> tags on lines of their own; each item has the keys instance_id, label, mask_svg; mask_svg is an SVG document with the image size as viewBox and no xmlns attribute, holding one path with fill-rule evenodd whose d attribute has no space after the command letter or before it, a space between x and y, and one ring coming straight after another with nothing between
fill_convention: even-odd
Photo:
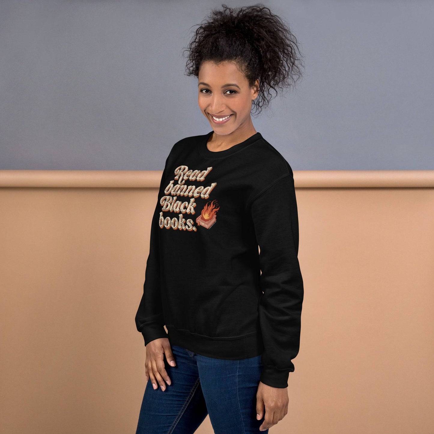
<instances>
[{"instance_id":1,"label":"woman's curly dark hair gathered in a high puff","mask_svg":"<svg viewBox=\"0 0 434 434\"><path fill-rule=\"evenodd\" d=\"M185 75L198 77L206 60L235 62L250 86L259 79L259 94L252 106L260 113L262 106L270 103L270 89L277 95L276 88L292 88L301 78L303 56L297 39L286 22L262 3L222 7L211 10L197 24L194 36L184 47L183 53L188 52Z\"/></svg>"}]
</instances>

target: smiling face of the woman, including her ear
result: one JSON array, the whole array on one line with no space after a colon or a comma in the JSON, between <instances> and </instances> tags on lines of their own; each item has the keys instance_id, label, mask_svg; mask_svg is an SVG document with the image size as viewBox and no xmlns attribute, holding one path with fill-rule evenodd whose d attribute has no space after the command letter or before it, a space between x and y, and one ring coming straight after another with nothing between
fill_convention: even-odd
<instances>
[{"instance_id":1,"label":"smiling face of the woman, including her ear","mask_svg":"<svg viewBox=\"0 0 434 434\"><path fill-rule=\"evenodd\" d=\"M249 82L233 62L203 62L198 76L198 103L202 113L217 134L227 135L252 125L252 100L258 96L257 87ZM259 80L256 80L256 86ZM224 120L217 119L229 118Z\"/></svg>"}]
</instances>

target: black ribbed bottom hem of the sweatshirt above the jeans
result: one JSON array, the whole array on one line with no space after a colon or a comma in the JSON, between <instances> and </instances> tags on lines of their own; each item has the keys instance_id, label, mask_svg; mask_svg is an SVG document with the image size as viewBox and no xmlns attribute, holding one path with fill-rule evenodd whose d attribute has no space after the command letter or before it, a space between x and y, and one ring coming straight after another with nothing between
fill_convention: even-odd
<instances>
[{"instance_id":1,"label":"black ribbed bottom hem of the sweatshirt above the jeans","mask_svg":"<svg viewBox=\"0 0 434 434\"><path fill-rule=\"evenodd\" d=\"M175 329L173 325L167 325L169 342L179 345L191 352L206 357L225 360L243 360L256 357L263 352L263 340L261 333L240 336L233 339L209 338L195 335L186 330Z\"/></svg>"}]
</instances>

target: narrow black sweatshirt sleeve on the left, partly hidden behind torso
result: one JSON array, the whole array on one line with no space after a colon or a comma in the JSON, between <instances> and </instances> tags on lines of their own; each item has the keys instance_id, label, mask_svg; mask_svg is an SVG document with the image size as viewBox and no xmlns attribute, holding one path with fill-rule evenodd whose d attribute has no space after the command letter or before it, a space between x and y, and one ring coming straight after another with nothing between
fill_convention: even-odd
<instances>
[{"instance_id":1,"label":"narrow black sweatshirt sleeve on the left, partly hidden behind torso","mask_svg":"<svg viewBox=\"0 0 434 434\"><path fill-rule=\"evenodd\" d=\"M168 160L166 160L166 165L161 176L158 195L165 179L167 162ZM146 262L143 295L135 316L136 327L143 335L145 346L155 339L168 337L167 332L164 330L163 306L160 292L160 228L158 227L160 210L161 205L157 200L151 221L151 240L149 243L149 256Z\"/></svg>"}]
</instances>

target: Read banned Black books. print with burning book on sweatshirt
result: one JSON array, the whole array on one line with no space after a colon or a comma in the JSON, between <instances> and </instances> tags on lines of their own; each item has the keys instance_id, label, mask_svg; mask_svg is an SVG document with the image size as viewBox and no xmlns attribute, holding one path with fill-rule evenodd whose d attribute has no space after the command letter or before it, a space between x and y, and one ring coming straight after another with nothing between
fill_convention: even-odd
<instances>
[{"instance_id":1,"label":"Read banned Black books. print with burning book on sweatshirt","mask_svg":"<svg viewBox=\"0 0 434 434\"><path fill-rule=\"evenodd\" d=\"M196 231L197 227L210 229L217 221L217 211L220 206L217 199L210 198L210 193L214 190L217 182L209 186L197 185L197 182L204 182L207 174L212 170L212 166L207 170L192 170L185 165L178 166L174 171L174 179L164 189L165 196L160 199L161 211L158 224L161 229L175 229ZM195 184L186 184L194 182ZM201 203L207 201L200 214L197 208L197 200ZM210 199L208 201L208 199ZM177 213L177 217L167 216L167 213ZM193 218L187 218L191 216ZM196 225L194 225L196 223Z\"/></svg>"}]
</instances>

